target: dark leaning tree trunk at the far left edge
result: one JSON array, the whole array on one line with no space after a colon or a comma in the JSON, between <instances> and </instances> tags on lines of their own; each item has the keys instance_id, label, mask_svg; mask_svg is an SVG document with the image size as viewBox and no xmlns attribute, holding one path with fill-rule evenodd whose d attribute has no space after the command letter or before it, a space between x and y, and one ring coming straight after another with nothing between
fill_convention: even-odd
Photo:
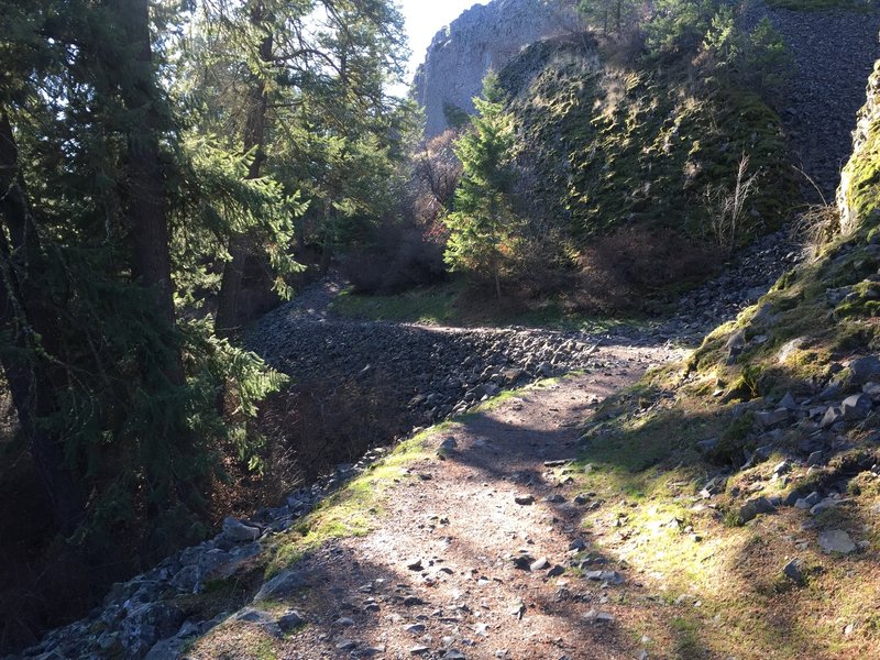
<instances>
[{"instance_id":1,"label":"dark leaning tree trunk at the far left edge","mask_svg":"<svg viewBox=\"0 0 880 660\"><path fill-rule=\"evenodd\" d=\"M8 334L13 348L0 351L0 364L55 527L69 535L85 515L85 495L65 464L61 433L41 422L58 413L57 396L67 385L66 373L57 366L63 358L58 353L61 333L57 317L45 299L48 293L40 290L33 279L43 274L45 263L19 173L12 127L2 108L0 191L0 217L11 239L10 244L0 228L0 331ZM47 361L43 353L57 362Z\"/></svg>"}]
</instances>

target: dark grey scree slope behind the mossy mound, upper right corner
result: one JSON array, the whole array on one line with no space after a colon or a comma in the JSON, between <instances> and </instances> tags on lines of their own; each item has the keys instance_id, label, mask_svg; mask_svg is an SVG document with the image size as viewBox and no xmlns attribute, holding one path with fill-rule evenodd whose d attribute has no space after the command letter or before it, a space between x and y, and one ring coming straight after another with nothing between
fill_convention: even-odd
<instances>
[{"instance_id":1,"label":"dark grey scree slope behind the mossy mound, upper right corner","mask_svg":"<svg viewBox=\"0 0 880 660\"><path fill-rule=\"evenodd\" d=\"M794 73L783 94L781 118L795 163L815 180L828 204L851 153L853 118L865 102L865 80L880 57L880 8L864 11L792 11L756 3L746 18L768 16L782 34ZM815 190L803 188L811 198Z\"/></svg>"}]
</instances>

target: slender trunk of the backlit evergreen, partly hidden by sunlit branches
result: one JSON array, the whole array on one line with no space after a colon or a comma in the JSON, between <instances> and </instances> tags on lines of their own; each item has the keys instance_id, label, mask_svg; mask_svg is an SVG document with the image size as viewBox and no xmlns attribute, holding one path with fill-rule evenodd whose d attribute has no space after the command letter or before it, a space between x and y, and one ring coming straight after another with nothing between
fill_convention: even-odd
<instances>
[{"instance_id":1,"label":"slender trunk of the backlit evergreen, partly hidden by sunlit branches","mask_svg":"<svg viewBox=\"0 0 880 660\"><path fill-rule=\"evenodd\" d=\"M251 12L251 25L260 28L265 21L265 11L262 2L257 2ZM260 42L258 55L262 62L272 57L273 40L267 34ZM256 150L253 163L248 170L248 178L260 177L260 170L266 158L264 146L266 140L266 112L268 110L268 92L266 82L261 76L254 76L248 92L248 116L244 127L244 151ZM217 320L215 331L221 337L229 337L240 328L242 322L250 320L242 314L242 283L244 268L249 258L260 258L252 254L252 238L235 234L230 239L230 261L223 267L223 278L220 283L220 294L217 300ZM258 295L258 294L257 294Z\"/></svg>"}]
</instances>

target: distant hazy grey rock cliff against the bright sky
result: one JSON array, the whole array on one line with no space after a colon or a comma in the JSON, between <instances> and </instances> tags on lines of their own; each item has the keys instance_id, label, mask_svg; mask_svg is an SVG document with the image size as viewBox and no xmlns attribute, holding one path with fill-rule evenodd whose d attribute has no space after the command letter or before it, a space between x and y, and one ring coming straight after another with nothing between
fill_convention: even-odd
<instances>
[{"instance_id":1,"label":"distant hazy grey rock cliff against the bright sky","mask_svg":"<svg viewBox=\"0 0 880 660\"><path fill-rule=\"evenodd\" d=\"M475 4L437 33L416 73L416 100L425 108L426 136L442 133L447 114L473 111L490 69L504 67L536 41L578 29L572 0L494 0Z\"/></svg>"}]
</instances>

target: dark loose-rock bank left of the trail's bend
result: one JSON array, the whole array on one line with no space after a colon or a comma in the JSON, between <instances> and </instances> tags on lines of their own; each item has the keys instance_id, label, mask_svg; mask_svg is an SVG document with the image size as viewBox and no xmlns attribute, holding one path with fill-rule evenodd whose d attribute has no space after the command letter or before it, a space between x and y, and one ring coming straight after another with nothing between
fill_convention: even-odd
<instances>
[{"instance_id":1,"label":"dark loose-rock bank left of the trail's bend","mask_svg":"<svg viewBox=\"0 0 880 660\"><path fill-rule=\"evenodd\" d=\"M268 315L250 348L297 381L378 378L415 424L430 424L539 377L598 366L595 339L525 329L458 329Z\"/></svg>"}]
</instances>

